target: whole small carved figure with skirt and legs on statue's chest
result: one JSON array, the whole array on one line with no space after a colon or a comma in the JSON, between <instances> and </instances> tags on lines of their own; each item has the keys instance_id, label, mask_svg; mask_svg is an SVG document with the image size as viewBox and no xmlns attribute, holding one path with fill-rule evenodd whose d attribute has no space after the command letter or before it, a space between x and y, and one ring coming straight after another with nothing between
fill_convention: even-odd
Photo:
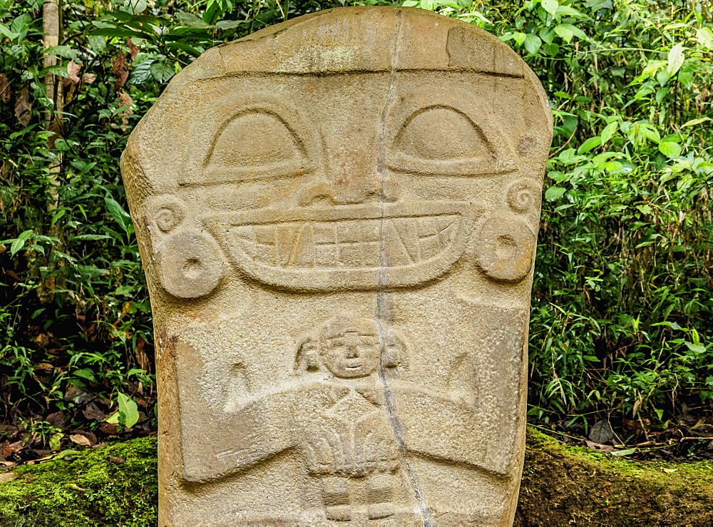
<instances>
[{"instance_id":1,"label":"whole small carved figure with skirt and legs on statue's chest","mask_svg":"<svg viewBox=\"0 0 713 527\"><path fill-rule=\"evenodd\" d=\"M321 479L327 519L352 519L349 480L363 478L369 519L394 514L394 483L400 480L399 443L389 421L379 369L402 364L403 341L388 335L382 344L373 320L329 320L301 345L297 369L332 374L329 381L345 392L333 406L314 416L300 448L309 475Z\"/></svg>"}]
</instances>

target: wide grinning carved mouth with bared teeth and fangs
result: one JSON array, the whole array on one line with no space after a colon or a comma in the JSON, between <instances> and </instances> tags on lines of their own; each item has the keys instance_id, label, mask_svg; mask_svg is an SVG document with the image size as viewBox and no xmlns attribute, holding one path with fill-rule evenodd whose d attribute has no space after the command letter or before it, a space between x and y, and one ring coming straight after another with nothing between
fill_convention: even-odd
<instances>
[{"instance_id":1,"label":"wide grinning carved mouth with bared teeth and fangs","mask_svg":"<svg viewBox=\"0 0 713 527\"><path fill-rule=\"evenodd\" d=\"M202 220L247 275L295 290L415 285L465 249L464 203L387 203L215 213Z\"/></svg>"}]
</instances>

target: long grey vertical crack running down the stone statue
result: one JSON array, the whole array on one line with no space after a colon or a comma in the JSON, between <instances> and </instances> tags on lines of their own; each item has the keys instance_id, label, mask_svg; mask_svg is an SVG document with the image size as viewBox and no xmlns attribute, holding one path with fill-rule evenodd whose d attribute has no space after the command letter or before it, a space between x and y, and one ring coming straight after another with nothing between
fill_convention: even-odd
<instances>
[{"instance_id":1,"label":"long grey vertical crack running down the stone statue","mask_svg":"<svg viewBox=\"0 0 713 527\"><path fill-rule=\"evenodd\" d=\"M394 317L394 304L393 304L393 293L386 290L389 285L389 277L386 275L386 269L389 267L389 255L386 251L386 210L384 206L385 202L385 179L386 179L386 167L384 166L384 159L386 154L386 118L389 115L389 109L393 104L394 99L394 85L396 83L396 68L399 64L399 47L401 46L401 24L404 19L403 11L399 10L396 12L396 35L394 36L394 48L391 54L391 70L389 71L389 88L386 91L386 98L384 101L384 109L381 111L381 137L379 138L379 155L376 159L376 171L379 174L380 179L380 190L379 190L379 208L381 209L381 221L379 224L379 284L376 288L376 323L379 325L379 339L381 341L382 349L386 346L389 339L388 325L391 324ZM383 353L382 353L383 357ZM431 527L433 522L431 521L431 513L429 508L426 506L426 501L424 500L423 493L421 492L421 486L419 485L418 474L416 470L409 464L409 460L406 457L406 446L404 441L404 425L399 421L399 416L396 415L394 401L394 394L389 389L389 384L386 381L386 375L384 374L384 364L383 360L379 359L379 380L384 386L384 399L386 400L386 412L389 414L389 423L391 424L391 429L394 431L394 436L396 436L396 443L399 445L399 453L401 454L401 461L406 469L406 474L409 477L411 488L416 495L416 500L419 502L419 509L421 511L421 516L423 518L424 527Z\"/></svg>"}]
</instances>

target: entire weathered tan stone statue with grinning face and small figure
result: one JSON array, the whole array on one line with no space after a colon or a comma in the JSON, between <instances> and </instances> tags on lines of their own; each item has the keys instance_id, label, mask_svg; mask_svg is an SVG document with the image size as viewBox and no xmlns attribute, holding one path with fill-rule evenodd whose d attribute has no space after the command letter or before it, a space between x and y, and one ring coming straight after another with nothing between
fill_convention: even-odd
<instances>
[{"instance_id":1,"label":"entire weathered tan stone statue with grinning face and small figure","mask_svg":"<svg viewBox=\"0 0 713 527\"><path fill-rule=\"evenodd\" d=\"M204 53L122 172L160 388L160 525L511 524L545 95L418 9Z\"/></svg>"}]
</instances>

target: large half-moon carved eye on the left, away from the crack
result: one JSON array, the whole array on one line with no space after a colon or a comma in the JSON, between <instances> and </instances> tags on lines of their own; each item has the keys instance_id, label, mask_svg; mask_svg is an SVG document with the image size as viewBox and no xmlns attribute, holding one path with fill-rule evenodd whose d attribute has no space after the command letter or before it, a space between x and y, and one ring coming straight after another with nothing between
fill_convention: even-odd
<instances>
[{"instance_id":1,"label":"large half-moon carved eye on the left, away from the crack","mask_svg":"<svg viewBox=\"0 0 713 527\"><path fill-rule=\"evenodd\" d=\"M305 170L305 150L297 134L276 113L251 110L228 121L217 134L205 163L213 183Z\"/></svg>"}]
</instances>

